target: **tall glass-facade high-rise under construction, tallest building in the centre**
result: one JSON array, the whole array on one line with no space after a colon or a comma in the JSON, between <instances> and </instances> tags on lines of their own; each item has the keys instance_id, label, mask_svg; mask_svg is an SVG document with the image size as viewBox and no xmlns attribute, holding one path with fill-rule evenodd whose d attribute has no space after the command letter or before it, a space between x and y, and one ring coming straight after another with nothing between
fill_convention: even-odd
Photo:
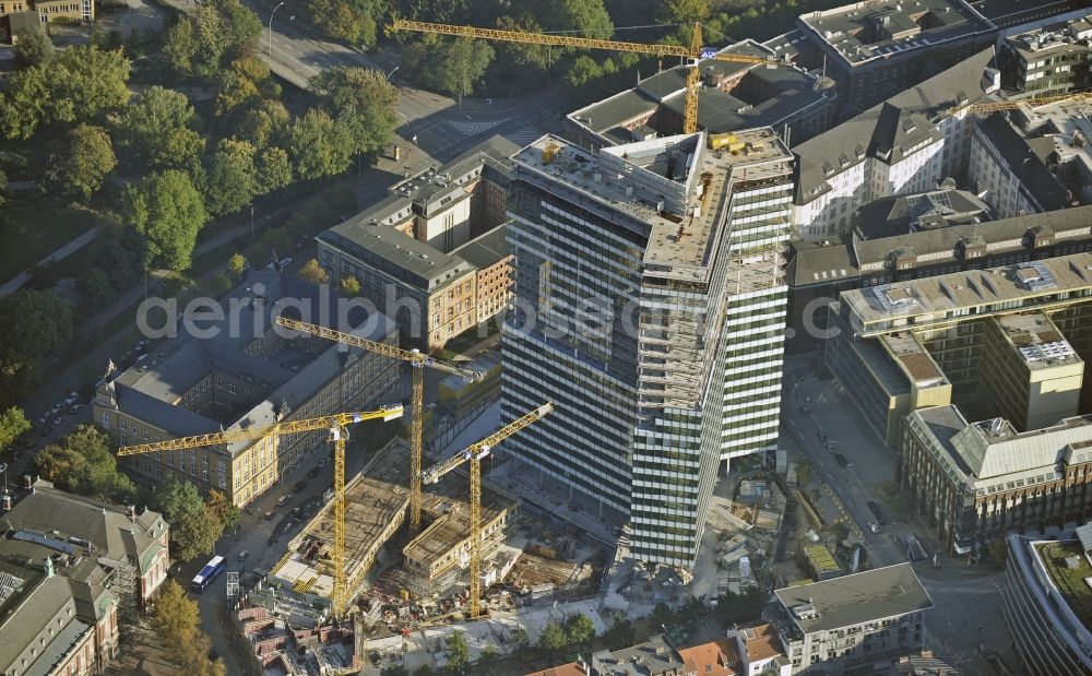
<instances>
[{"instance_id":1,"label":"tall glass-facade high-rise under construction, tallest building in the centre","mask_svg":"<svg viewBox=\"0 0 1092 676\"><path fill-rule=\"evenodd\" d=\"M692 566L722 461L773 448L792 156L769 128L513 159L505 416L555 412L521 461L629 519L631 552Z\"/></svg>"}]
</instances>

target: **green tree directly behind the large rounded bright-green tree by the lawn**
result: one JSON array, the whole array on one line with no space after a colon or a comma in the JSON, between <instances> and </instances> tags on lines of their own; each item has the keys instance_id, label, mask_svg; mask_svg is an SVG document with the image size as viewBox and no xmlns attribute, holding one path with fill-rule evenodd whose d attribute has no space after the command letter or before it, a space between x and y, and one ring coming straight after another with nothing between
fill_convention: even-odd
<instances>
[{"instance_id":1,"label":"green tree directly behind the large rounded bright-green tree by the lawn","mask_svg":"<svg viewBox=\"0 0 1092 676\"><path fill-rule=\"evenodd\" d=\"M197 114L186 95L152 86L118 116L118 146L134 165L152 169L192 169L204 152L204 139L193 127Z\"/></svg>"}]
</instances>

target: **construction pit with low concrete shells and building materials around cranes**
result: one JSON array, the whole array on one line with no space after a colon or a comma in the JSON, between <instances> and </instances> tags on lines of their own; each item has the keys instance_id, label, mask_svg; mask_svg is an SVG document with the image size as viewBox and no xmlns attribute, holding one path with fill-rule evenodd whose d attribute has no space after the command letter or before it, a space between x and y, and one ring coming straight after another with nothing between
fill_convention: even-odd
<instances>
[{"instance_id":1,"label":"construction pit with low concrete shells and building materials around cranes","mask_svg":"<svg viewBox=\"0 0 1092 676\"><path fill-rule=\"evenodd\" d=\"M425 459L425 465L429 459ZM466 467L426 485L423 529L402 527L410 509L410 449L402 438L377 451L345 486L345 574L358 627L401 632L461 619L470 564ZM483 590L486 612L515 610L546 595L592 585L596 552L519 515L515 495L482 491ZM333 591L333 502L287 545L270 580L301 602L329 606ZM574 559L581 562L571 562Z\"/></svg>"}]
</instances>

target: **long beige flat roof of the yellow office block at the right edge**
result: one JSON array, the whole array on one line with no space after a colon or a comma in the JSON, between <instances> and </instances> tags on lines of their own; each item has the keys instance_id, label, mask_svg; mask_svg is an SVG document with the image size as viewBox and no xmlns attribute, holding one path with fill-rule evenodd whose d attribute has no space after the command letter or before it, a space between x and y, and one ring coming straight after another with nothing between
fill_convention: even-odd
<instances>
[{"instance_id":1,"label":"long beige flat roof of the yellow office block at the right edge","mask_svg":"<svg viewBox=\"0 0 1092 676\"><path fill-rule=\"evenodd\" d=\"M1013 301L1092 290L1092 253L1072 253L985 270L966 270L842 292L842 304L864 334L1013 312ZM963 312L962 310L977 311ZM894 322L894 323L892 323ZM878 323L870 328L868 324Z\"/></svg>"}]
</instances>

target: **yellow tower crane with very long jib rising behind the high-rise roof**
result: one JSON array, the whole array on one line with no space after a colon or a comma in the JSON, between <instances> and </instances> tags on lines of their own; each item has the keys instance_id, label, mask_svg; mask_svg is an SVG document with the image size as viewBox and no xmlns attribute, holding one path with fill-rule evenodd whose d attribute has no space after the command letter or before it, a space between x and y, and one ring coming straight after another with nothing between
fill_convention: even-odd
<instances>
[{"instance_id":1,"label":"yellow tower crane with very long jib rising behind the high-rise roof","mask_svg":"<svg viewBox=\"0 0 1092 676\"><path fill-rule=\"evenodd\" d=\"M713 59L716 61L734 61L736 63L764 63L769 67L785 66L786 61L767 57L752 57L743 54L721 54L701 44L701 24L693 24L693 36L690 46L682 45L650 45L645 43L624 43L619 40L600 40L590 37L573 37L569 35L551 35L548 33L526 33L523 31L500 31L497 28L476 28L474 26L453 26L450 24L428 23L397 19L391 24L394 31L416 31L436 35L454 35L524 45L548 45L550 47L580 47L583 49L609 49L613 51L631 51L655 57L679 57L686 59L690 70L686 75L686 107L682 116L682 132L698 131L698 61Z\"/></svg>"}]
</instances>

